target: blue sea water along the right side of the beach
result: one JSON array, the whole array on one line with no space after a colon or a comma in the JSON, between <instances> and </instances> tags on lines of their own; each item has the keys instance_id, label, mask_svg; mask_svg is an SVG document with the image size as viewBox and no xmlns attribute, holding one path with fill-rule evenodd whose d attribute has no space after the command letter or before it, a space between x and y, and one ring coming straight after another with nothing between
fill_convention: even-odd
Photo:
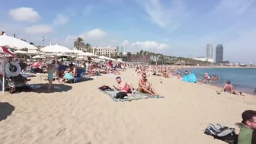
<instances>
[{"instance_id":1,"label":"blue sea water along the right side of the beach","mask_svg":"<svg viewBox=\"0 0 256 144\"><path fill-rule=\"evenodd\" d=\"M216 82L208 82L211 85L224 86L229 80L236 91L244 91L251 94L256 88L256 69L248 68L214 68L214 69L187 69L197 76L197 81L203 82L204 73L217 75Z\"/></svg>"}]
</instances>

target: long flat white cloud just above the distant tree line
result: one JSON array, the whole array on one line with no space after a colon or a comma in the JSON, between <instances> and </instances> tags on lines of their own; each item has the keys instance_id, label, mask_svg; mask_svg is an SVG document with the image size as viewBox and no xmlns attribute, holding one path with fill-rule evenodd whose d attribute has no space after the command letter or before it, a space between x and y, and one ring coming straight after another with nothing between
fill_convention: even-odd
<instances>
[{"instance_id":1,"label":"long flat white cloud just above the distant tree line","mask_svg":"<svg viewBox=\"0 0 256 144\"><path fill-rule=\"evenodd\" d=\"M135 46L142 50L151 50L151 49L162 50L162 49L170 47L166 43L156 43L155 41L145 41L145 42L137 41L136 43L132 43L131 46Z\"/></svg>"}]
</instances>

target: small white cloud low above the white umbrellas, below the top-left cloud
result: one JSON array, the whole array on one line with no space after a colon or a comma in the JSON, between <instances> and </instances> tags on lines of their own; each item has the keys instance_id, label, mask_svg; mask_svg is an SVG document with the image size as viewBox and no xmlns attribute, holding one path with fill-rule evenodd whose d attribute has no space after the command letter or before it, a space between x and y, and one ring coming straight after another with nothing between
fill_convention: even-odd
<instances>
[{"instance_id":1,"label":"small white cloud low above the white umbrellas, below the top-left cloud","mask_svg":"<svg viewBox=\"0 0 256 144\"><path fill-rule=\"evenodd\" d=\"M26 27L25 32L27 34L50 34L53 32L53 27L50 25L33 25L31 27Z\"/></svg>"}]
</instances>

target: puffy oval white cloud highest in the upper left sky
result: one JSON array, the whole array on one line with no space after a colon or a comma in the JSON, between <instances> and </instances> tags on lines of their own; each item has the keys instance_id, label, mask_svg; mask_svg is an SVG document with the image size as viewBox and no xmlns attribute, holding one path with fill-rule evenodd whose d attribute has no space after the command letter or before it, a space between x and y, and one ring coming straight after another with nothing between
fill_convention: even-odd
<instances>
[{"instance_id":1,"label":"puffy oval white cloud highest in the upper left sky","mask_svg":"<svg viewBox=\"0 0 256 144\"><path fill-rule=\"evenodd\" d=\"M37 11L34 11L33 8L15 8L9 11L9 16L15 21L24 21L24 22L37 22L40 19L40 15Z\"/></svg>"}]
</instances>

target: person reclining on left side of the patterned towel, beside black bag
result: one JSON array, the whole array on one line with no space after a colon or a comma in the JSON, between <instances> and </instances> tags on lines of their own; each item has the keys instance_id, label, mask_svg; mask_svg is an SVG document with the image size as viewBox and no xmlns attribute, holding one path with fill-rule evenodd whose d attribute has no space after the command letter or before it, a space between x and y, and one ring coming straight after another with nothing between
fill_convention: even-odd
<instances>
[{"instance_id":1,"label":"person reclining on left side of the patterned towel, beside black bag","mask_svg":"<svg viewBox=\"0 0 256 144\"><path fill-rule=\"evenodd\" d=\"M125 82L119 76L116 78L117 86L113 85L118 91L126 92L126 94L133 96L133 85L130 82Z\"/></svg>"}]
</instances>

